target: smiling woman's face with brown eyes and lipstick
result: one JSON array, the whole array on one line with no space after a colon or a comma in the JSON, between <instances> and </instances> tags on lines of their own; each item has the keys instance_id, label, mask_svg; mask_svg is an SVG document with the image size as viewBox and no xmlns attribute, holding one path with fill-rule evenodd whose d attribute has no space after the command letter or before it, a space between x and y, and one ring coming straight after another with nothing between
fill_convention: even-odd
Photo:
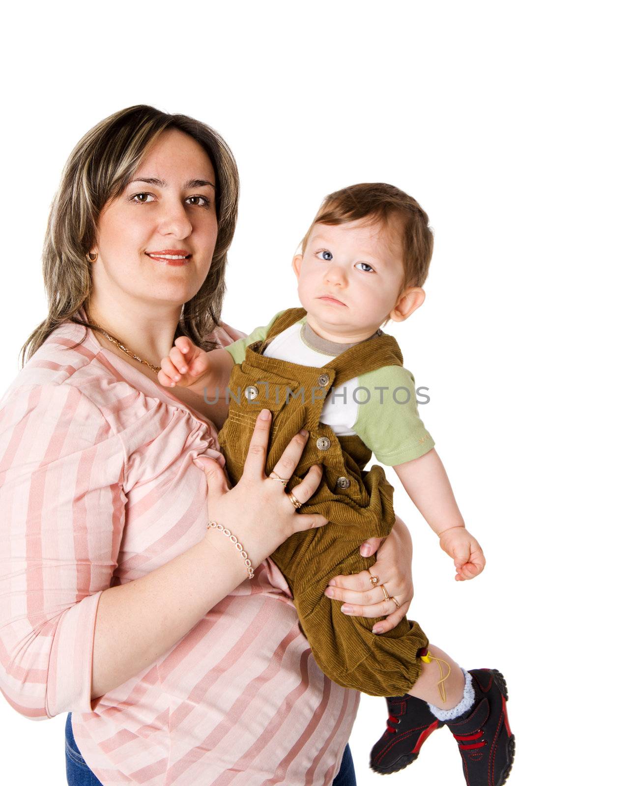
<instances>
[{"instance_id":1,"label":"smiling woman's face with brown eyes and lipstick","mask_svg":"<svg viewBox=\"0 0 630 786\"><path fill-rule=\"evenodd\" d=\"M204 282L216 244L216 176L193 138L169 129L98 219L98 301L181 308ZM168 257L185 259L168 259Z\"/></svg>"}]
</instances>

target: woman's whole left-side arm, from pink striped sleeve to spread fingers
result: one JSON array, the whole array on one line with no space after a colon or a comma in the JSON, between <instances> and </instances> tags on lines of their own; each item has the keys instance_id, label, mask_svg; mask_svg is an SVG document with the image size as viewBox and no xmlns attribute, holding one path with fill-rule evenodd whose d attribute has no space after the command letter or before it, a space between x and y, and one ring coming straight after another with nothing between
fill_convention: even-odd
<instances>
[{"instance_id":1,"label":"woman's whole left-side arm, from pink striped sleeve to spread fingers","mask_svg":"<svg viewBox=\"0 0 630 786\"><path fill-rule=\"evenodd\" d=\"M4 404L0 688L27 718L90 712L247 578L244 560L229 538L208 531L149 575L110 587L124 529L120 439L69 384L21 388ZM253 567L294 531L326 523L298 515L264 476L270 422L259 422L234 489L219 464L197 459L208 465L208 516L234 527ZM278 472L293 472L304 444L293 439ZM293 493L306 501L320 479L321 468L311 468Z\"/></svg>"}]
</instances>

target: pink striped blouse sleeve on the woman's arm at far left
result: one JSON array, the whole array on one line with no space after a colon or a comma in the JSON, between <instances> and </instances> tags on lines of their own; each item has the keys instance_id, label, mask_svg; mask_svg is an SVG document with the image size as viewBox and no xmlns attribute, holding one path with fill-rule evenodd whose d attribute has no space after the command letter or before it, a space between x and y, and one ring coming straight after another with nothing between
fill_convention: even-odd
<instances>
[{"instance_id":1,"label":"pink striped blouse sleeve on the woman's arm at far left","mask_svg":"<svg viewBox=\"0 0 630 786\"><path fill-rule=\"evenodd\" d=\"M120 439L78 387L16 387L2 401L0 689L27 718L93 711L94 626L120 549L124 468Z\"/></svg>"}]
</instances>

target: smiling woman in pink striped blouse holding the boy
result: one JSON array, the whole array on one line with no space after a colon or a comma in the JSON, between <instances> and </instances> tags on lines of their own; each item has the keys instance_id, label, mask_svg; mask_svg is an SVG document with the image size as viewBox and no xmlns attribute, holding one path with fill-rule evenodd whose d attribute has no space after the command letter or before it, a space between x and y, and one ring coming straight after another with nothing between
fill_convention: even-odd
<instances>
[{"instance_id":1,"label":"smiling woman in pink striped blouse holding the boy","mask_svg":"<svg viewBox=\"0 0 630 786\"><path fill-rule=\"evenodd\" d=\"M237 201L215 131L140 105L79 141L53 202L50 313L0 402L0 688L28 718L70 712L69 783L355 783L359 693L316 667L267 559L326 521L265 476L269 420L230 490L213 424L157 383L177 336L212 348L242 335L220 322ZM320 477L311 468L295 496ZM378 558L390 594L411 600L400 521ZM337 584L355 613L386 613L367 571Z\"/></svg>"}]
</instances>

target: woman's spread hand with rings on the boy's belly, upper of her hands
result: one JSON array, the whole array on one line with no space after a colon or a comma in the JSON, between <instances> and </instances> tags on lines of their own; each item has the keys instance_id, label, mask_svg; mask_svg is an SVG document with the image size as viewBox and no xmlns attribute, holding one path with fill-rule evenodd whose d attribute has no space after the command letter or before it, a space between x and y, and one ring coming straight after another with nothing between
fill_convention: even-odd
<instances>
[{"instance_id":1,"label":"woman's spread hand with rings on the boy's belly, upper of her hands","mask_svg":"<svg viewBox=\"0 0 630 786\"><path fill-rule=\"evenodd\" d=\"M270 428L271 413L262 410L249 442L243 475L232 489L223 468L216 461L208 456L195 459L204 469L208 482L208 520L223 524L223 527L233 531L254 568L285 542L289 535L328 523L319 514L298 513L283 484L265 475ZM308 432L304 429L293 437L274 466L278 476L290 478L293 475L307 439ZM298 501L306 502L315 494L321 479L321 465L313 465L302 482L293 488L293 495ZM227 538L217 538L216 532L208 531L206 537L212 538L214 545L223 541L231 545ZM235 552L234 546L232 550ZM234 553L234 557L237 558L238 554Z\"/></svg>"}]
</instances>

